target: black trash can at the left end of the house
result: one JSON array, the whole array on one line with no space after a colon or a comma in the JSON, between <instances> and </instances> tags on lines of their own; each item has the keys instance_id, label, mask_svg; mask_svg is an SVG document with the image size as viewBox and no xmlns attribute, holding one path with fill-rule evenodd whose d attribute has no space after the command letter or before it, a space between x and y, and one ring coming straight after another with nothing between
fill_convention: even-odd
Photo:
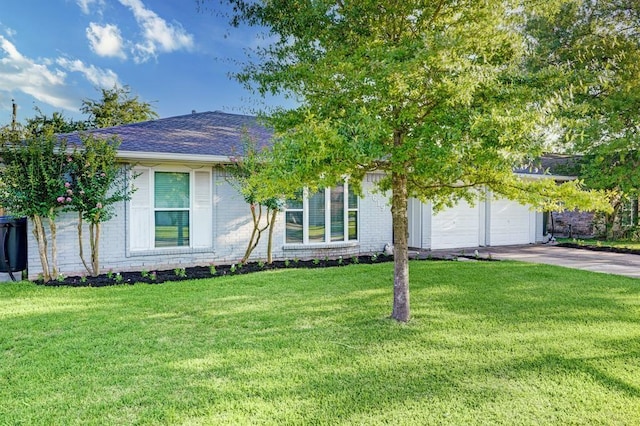
<instances>
[{"instance_id":1,"label":"black trash can at the left end of the house","mask_svg":"<svg viewBox=\"0 0 640 426\"><path fill-rule=\"evenodd\" d=\"M27 269L27 218L0 216L0 272Z\"/></svg>"}]
</instances>

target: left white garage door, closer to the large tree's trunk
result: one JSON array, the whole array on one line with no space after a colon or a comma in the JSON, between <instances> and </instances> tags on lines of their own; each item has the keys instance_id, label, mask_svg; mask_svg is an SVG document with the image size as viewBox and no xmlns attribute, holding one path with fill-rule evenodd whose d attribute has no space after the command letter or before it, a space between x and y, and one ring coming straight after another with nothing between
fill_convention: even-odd
<instances>
[{"instance_id":1,"label":"left white garage door, closer to the large tree's trunk","mask_svg":"<svg viewBox=\"0 0 640 426\"><path fill-rule=\"evenodd\" d=\"M431 248L462 248L480 245L480 212L483 203L470 206L461 200L456 206L433 216Z\"/></svg>"}]
</instances>

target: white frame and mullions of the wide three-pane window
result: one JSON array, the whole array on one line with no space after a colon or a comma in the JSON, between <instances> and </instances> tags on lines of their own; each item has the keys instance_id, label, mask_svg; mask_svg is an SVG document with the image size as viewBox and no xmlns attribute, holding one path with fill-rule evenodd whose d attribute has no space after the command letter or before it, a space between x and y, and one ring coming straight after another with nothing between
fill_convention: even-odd
<instances>
[{"instance_id":1,"label":"white frame and mullions of the wide three-pane window","mask_svg":"<svg viewBox=\"0 0 640 426\"><path fill-rule=\"evenodd\" d=\"M349 183L344 182L343 197L343 238L341 240L331 240L331 189L324 188L324 241L309 241L309 190L304 188L302 198L302 208L285 207L285 226L284 226L284 244L285 246L309 245L309 246L327 246L340 245L344 243L357 243L360 239L360 197L356 198L356 207L349 208ZM302 211L302 241L287 242L287 212ZM349 213L356 212L356 238L349 239Z\"/></svg>"}]
</instances>

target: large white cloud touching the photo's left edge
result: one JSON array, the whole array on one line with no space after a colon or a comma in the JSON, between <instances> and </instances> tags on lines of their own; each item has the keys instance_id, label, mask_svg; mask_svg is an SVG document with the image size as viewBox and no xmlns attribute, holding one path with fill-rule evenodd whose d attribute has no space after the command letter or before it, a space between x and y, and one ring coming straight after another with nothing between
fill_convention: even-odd
<instances>
[{"instance_id":1,"label":"large white cloud touching the photo's left edge","mask_svg":"<svg viewBox=\"0 0 640 426\"><path fill-rule=\"evenodd\" d=\"M86 65L79 60L58 58L36 61L27 58L0 35L0 92L22 92L55 108L77 111L80 101L71 94L68 72L79 72L96 86L113 87L118 82L113 71Z\"/></svg>"}]
</instances>

